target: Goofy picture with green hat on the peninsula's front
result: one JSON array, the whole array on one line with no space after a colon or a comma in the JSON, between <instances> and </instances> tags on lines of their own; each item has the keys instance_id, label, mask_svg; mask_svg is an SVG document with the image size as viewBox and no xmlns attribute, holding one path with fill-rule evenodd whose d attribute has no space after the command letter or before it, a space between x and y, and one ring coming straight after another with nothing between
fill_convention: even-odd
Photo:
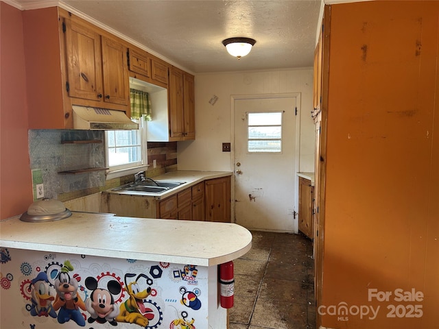
<instances>
[{"instance_id":1,"label":"Goofy picture with green hat on the peninsula's front","mask_svg":"<svg viewBox=\"0 0 439 329\"><path fill-rule=\"evenodd\" d=\"M85 326L84 316L79 309L86 310L84 301L78 295L78 280L69 276L73 266L69 260L64 261L64 266L55 280L56 298L54 309L58 311L58 323L73 320L79 326Z\"/></svg>"}]
</instances>

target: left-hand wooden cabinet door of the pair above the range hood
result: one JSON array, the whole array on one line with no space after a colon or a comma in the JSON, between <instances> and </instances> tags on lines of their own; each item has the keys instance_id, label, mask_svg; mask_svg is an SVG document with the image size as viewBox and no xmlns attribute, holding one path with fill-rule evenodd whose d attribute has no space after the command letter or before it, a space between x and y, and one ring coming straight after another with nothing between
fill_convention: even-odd
<instances>
[{"instance_id":1,"label":"left-hand wooden cabinet door of the pair above the range hood","mask_svg":"<svg viewBox=\"0 0 439 329\"><path fill-rule=\"evenodd\" d=\"M69 96L101 101L101 37L93 29L74 19L66 19L65 24Z\"/></svg>"}]
</instances>

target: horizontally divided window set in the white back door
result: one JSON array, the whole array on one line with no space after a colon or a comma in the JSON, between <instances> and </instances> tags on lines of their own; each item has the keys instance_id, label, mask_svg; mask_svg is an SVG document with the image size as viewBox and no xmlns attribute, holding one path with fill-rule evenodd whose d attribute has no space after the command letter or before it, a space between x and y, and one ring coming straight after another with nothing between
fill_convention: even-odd
<instances>
[{"instance_id":1,"label":"horizontally divided window set in the white back door","mask_svg":"<svg viewBox=\"0 0 439 329\"><path fill-rule=\"evenodd\" d=\"M283 112L248 112L248 153L282 152Z\"/></svg>"}]
</instances>

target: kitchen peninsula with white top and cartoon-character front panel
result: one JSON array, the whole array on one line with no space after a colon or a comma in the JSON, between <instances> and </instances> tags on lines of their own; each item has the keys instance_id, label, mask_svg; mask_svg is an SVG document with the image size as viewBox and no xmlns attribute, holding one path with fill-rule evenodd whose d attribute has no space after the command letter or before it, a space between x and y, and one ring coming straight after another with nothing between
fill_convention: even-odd
<instances>
[{"instance_id":1,"label":"kitchen peninsula with white top and cartoon-character front panel","mask_svg":"<svg viewBox=\"0 0 439 329\"><path fill-rule=\"evenodd\" d=\"M226 328L217 265L246 254L252 240L234 223L87 212L41 223L14 217L0 232L1 313L12 315L2 328ZM75 309L59 306L60 282ZM96 294L106 296L105 314Z\"/></svg>"}]
</instances>

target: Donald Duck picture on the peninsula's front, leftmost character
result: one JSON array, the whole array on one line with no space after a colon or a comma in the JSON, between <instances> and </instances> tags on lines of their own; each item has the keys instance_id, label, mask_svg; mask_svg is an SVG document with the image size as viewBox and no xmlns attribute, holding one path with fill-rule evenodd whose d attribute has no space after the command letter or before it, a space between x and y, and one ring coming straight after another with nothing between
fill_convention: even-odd
<instances>
[{"instance_id":1,"label":"Donald Duck picture on the peninsula's front, leftmost character","mask_svg":"<svg viewBox=\"0 0 439 329\"><path fill-rule=\"evenodd\" d=\"M55 293L51 293L49 280L45 272L38 273L30 284L30 294L32 306L30 308L30 315L33 317L38 316L51 316L56 317L56 312L52 302L55 300Z\"/></svg>"}]
</instances>

